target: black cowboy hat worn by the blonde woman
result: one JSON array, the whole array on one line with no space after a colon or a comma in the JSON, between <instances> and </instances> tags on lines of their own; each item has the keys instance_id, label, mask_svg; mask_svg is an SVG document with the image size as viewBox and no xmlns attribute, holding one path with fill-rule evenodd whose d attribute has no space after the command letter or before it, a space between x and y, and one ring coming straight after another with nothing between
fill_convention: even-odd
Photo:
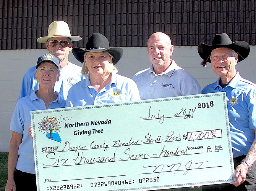
<instances>
[{"instance_id":1,"label":"black cowboy hat worn by the blonde woman","mask_svg":"<svg viewBox=\"0 0 256 191\"><path fill-rule=\"evenodd\" d=\"M89 38L88 42L86 43L85 50L81 48L73 48L72 53L78 59L79 62L84 62L84 53L85 52L93 52L93 53L99 53L99 52L108 52L113 56L113 65L117 64L117 62L121 59L123 56L123 49L122 48L109 48L109 40L107 38L100 34L100 33L94 33Z\"/></svg>"}]
</instances>

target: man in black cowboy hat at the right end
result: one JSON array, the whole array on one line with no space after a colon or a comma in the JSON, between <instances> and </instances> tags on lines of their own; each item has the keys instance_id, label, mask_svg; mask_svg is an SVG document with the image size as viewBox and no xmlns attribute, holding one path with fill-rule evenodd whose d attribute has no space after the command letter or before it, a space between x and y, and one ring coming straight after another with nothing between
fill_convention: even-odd
<instances>
[{"instance_id":1,"label":"man in black cowboy hat at the right end","mask_svg":"<svg viewBox=\"0 0 256 191\"><path fill-rule=\"evenodd\" d=\"M201 65L211 63L219 79L202 93L226 92L235 165L230 184L203 186L202 190L256 190L256 84L241 78L235 66L250 53L245 41L232 43L226 33L216 34L212 45L199 44Z\"/></svg>"}]
</instances>

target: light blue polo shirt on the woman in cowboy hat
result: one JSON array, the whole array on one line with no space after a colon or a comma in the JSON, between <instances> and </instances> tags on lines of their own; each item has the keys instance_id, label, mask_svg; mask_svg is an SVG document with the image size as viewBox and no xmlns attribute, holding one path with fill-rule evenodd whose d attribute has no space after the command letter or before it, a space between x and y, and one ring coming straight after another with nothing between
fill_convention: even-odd
<instances>
[{"instance_id":1,"label":"light blue polo shirt on the woman in cowboy hat","mask_svg":"<svg viewBox=\"0 0 256 191\"><path fill-rule=\"evenodd\" d=\"M73 85L66 100L66 107L96 105L140 100L137 85L130 78L112 73L111 81L99 92L86 78Z\"/></svg>"}]
</instances>

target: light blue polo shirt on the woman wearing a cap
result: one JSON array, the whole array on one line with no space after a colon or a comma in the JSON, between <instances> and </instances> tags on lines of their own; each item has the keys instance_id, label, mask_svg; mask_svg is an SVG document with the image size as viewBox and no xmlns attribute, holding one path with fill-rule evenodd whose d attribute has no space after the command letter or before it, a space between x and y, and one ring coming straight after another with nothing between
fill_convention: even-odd
<instances>
[{"instance_id":1,"label":"light blue polo shirt on the woman wearing a cap","mask_svg":"<svg viewBox=\"0 0 256 191\"><path fill-rule=\"evenodd\" d=\"M30 111L46 110L44 101L37 97L36 91L32 92L31 95L18 100L10 123L11 131L23 134L22 142L19 145L19 158L16 169L32 174L36 172L34 165L33 142L28 132L29 126L31 125ZM65 107L66 101L60 97L58 92L55 93L58 97L50 103L49 109Z\"/></svg>"}]
</instances>

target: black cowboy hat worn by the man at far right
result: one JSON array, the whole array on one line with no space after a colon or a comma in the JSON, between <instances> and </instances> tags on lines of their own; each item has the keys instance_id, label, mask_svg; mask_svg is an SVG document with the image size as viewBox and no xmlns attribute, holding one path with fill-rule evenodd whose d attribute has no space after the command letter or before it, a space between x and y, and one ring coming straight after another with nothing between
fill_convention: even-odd
<instances>
[{"instance_id":1,"label":"black cowboy hat worn by the man at far right","mask_svg":"<svg viewBox=\"0 0 256 191\"><path fill-rule=\"evenodd\" d=\"M215 48L231 48L238 53L238 62L246 59L250 53L250 46L245 41L235 41L232 43L231 39L226 33L216 34L212 40L212 45L200 43L198 45L198 54L205 62L210 62L210 55ZM205 63L206 64L206 63Z\"/></svg>"}]
</instances>

